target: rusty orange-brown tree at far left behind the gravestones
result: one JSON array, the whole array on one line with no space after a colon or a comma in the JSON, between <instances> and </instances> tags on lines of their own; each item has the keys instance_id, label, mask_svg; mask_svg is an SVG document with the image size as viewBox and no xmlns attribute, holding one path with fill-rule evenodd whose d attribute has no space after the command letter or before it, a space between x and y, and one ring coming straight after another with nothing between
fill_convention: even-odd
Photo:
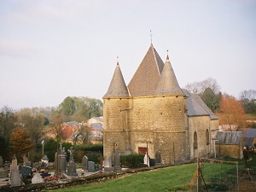
<instances>
[{"instance_id":1,"label":"rusty orange-brown tree at far left behind the gravestones","mask_svg":"<svg viewBox=\"0 0 256 192\"><path fill-rule=\"evenodd\" d=\"M24 128L17 127L11 133L10 146L17 159L22 160L24 154L33 151L34 143Z\"/></svg>"}]
</instances>

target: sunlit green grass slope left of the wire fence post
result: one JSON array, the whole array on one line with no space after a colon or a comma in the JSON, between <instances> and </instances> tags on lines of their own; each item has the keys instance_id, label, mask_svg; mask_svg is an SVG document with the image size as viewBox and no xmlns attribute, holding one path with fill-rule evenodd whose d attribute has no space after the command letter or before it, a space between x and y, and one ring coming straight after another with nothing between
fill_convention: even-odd
<instances>
[{"instance_id":1,"label":"sunlit green grass slope left of the wire fence post","mask_svg":"<svg viewBox=\"0 0 256 192\"><path fill-rule=\"evenodd\" d=\"M129 177L92 183L84 186L57 189L61 192L104 191L104 192L154 192L188 190L196 164L173 166L150 172L138 172Z\"/></svg>"}]
</instances>

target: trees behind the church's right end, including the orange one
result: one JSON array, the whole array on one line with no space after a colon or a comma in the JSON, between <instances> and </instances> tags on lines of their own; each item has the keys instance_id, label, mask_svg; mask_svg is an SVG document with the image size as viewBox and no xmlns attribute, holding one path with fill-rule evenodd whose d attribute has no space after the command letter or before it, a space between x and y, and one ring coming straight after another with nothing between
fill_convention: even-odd
<instances>
[{"instance_id":1,"label":"trees behind the church's right end, including the orange one","mask_svg":"<svg viewBox=\"0 0 256 192\"><path fill-rule=\"evenodd\" d=\"M256 119L256 90L242 90L238 99L220 91L216 79L208 78L200 82L187 84L185 89L196 93L207 104L207 107L216 113L219 125L229 125L226 131L236 131L237 128L256 128L253 120ZM252 114L254 119L248 119Z\"/></svg>"}]
</instances>

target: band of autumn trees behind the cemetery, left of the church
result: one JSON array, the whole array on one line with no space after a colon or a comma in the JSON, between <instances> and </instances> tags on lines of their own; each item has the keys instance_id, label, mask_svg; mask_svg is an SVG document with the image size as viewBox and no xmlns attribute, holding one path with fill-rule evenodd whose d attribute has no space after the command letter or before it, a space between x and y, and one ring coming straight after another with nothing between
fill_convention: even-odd
<instances>
[{"instance_id":1,"label":"band of autumn trees behind the cemetery, left of the church","mask_svg":"<svg viewBox=\"0 0 256 192\"><path fill-rule=\"evenodd\" d=\"M102 102L89 97L67 96L56 108L21 108L14 111L4 106L0 111L0 156L3 160L10 160L15 154L22 160L23 154L30 154L37 159L42 156L41 142L46 133L51 132L59 143L63 141L61 124L67 121L86 122L98 116L102 116ZM84 127L83 133L89 135L86 129ZM87 142L88 139L83 139L83 144Z\"/></svg>"}]
</instances>

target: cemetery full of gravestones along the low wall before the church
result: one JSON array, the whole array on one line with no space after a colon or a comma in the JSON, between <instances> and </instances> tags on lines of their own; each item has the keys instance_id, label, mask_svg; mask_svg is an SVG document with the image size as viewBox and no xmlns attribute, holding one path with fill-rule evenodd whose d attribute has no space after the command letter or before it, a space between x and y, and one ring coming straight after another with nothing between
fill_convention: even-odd
<instances>
[{"instance_id":1,"label":"cemetery full of gravestones along the low wall before the church","mask_svg":"<svg viewBox=\"0 0 256 192\"><path fill-rule=\"evenodd\" d=\"M65 148L59 143L55 152L55 162L49 162L44 155L41 162L31 162L26 156L23 157L22 165L15 155L11 162L4 162L0 156L0 191L40 191L42 189L60 189L67 186L80 185L105 181L119 177L126 173L144 172L155 168L165 167L160 163L160 153L158 152L157 163L149 167L148 155L143 155L143 163L140 168L131 170L128 164L121 166L120 154L113 154L113 160L104 160L102 156L98 158L100 166L88 160L84 155L79 163L79 168L74 160L74 149L67 149L69 160ZM151 163L152 164L152 163ZM104 167L103 165L107 165Z\"/></svg>"}]
</instances>

